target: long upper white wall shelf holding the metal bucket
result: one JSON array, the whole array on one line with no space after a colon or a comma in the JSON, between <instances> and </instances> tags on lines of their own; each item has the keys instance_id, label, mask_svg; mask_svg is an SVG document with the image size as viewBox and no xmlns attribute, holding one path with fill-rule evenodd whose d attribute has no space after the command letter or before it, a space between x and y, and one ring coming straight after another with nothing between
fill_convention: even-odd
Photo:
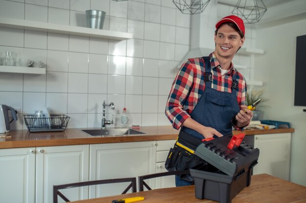
<instances>
[{"instance_id":1,"label":"long upper white wall shelf holding the metal bucket","mask_svg":"<svg viewBox=\"0 0 306 203\"><path fill-rule=\"evenodd\" d=\"M123 33L117 31L92 29L87 27L77 27L61 24L53 24L47 22L30 21L14 18L0 18L0 26L16 29L26 29L58 34L85 36L85 37L97 37L115 40L131 39L133 34Z\"/></svg>"}]
</instances>

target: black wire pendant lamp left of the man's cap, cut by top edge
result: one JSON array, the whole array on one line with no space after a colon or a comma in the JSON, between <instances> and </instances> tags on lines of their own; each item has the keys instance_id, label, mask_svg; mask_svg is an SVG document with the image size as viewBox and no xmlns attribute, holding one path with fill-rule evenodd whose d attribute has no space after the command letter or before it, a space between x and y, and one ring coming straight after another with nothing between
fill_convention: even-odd
<instances>
[{"instance_id":1,"label":"black wire pendant lamp left of the man's cap, cut by top edge","mask_svg":"<svg viewBox=\"0 0 306 203\"><path fill-rule=\"evenodd\" d=\"M173 0L173 3L183 14L198 14L204 11L209 1L210 0L206 2L203 2L203 0Z\"/></svg>"}]
</instances>

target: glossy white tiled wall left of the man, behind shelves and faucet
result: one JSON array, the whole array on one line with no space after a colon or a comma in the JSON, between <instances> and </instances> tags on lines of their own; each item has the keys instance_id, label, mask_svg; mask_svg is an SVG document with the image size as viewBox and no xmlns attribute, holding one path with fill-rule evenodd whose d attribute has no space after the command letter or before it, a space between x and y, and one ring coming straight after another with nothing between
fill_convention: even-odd
<instances>
[{"instance_id":1,"label":"glossy white tiled wall left of the man, behind shelves and faucet","mask_svg":"<svg viewBox=\"0 0 306 203\"><path fill-rule=\"evenodd\" d=\"M171 125L165 103L177 69L189 50L190 16L172 0L0 0L0 17L86 27L85 10L106 11L104 29L130 32L114 41L0 27L0 51L46 62L46 75L0 73L0 104L20 108L13 129L25 129L23 114L48 107L70 116L68 128L101 127L124 107L129 125ZM17 66L19 64L17 63ZM119 122L117 122L119 125ZM113 125L112 125L113 126Z\"/></svg>"}]
</instances>

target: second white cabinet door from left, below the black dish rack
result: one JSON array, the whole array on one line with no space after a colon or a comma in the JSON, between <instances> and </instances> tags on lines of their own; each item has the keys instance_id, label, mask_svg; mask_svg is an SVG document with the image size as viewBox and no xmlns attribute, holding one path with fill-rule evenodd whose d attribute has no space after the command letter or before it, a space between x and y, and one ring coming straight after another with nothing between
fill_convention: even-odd
<instances>
[{"instance_id":1,"label":"second white cabinet door from left, below the black dish rack","mask_svg":"<svg viewBox=\"0 0 306 203\"><path fill-rule=\"evenodd\" d=\"M88 181L89 145L38 147L36 150L36 203L53 203L53 185ZM62 192L70 201L88 199L88 187Z\"/></svg>"}]
</instances>

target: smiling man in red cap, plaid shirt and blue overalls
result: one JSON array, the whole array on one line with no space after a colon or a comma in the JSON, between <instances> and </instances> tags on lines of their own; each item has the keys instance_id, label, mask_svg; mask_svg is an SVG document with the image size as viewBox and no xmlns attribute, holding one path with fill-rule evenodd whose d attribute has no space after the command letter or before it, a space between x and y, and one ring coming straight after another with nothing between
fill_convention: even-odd
<instances>
[{"instance_id":1,"label":"smiling man in red cap, plaid shirt and blue overalls","mask_svg":"<svg viewBox=\"0 0 306 203\"><path fill-rule=\"evenodd\" d=\"M227 16L216 23L215 51L208 57L190 58L179 70L166 104L166 115L181 128L166 168L181 171L205 163L194 154L202 139L232 135L243 130L253 116L245 106L245 79L232 59L244 43L243 20ZM176 186L191 185L193 178L176 176Z\"/></svg>"}]
</instances>

